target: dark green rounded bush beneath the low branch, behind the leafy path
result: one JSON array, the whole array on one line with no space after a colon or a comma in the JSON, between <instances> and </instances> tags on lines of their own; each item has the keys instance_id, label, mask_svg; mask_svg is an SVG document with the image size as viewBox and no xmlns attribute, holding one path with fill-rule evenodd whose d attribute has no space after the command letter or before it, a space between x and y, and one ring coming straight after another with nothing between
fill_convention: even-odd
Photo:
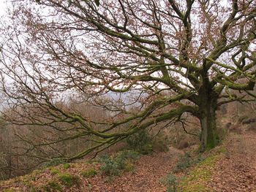
<instances>
[{"instance_id":1,"label":"dark green rounded bush beneath the low branch, behind the leafy path","mask_svg":"<svg viewBox=\"0 0 256 192\"><path fill-rule=\"evenodd\" d=\"M127 144L130 149L137 150L142 154L148 154L153 151L152 139L146 130L138 131L127 137Z\"/></svg>"}]
</instances>

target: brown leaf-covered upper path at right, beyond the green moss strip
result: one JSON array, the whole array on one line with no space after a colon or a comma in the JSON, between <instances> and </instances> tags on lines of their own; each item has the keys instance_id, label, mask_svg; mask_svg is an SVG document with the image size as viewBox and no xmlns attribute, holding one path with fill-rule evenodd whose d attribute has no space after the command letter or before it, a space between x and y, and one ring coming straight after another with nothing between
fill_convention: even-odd
<instances>
[{"instance_id":1,"label":"brown leaf-covered upper path at right, beyond the green moss strip","mask_svg":"<svg viewBox=\"0 0 256 192\"><path fill-rule=\"evenodd\" d=\"M256 134L231 134L225 158L217 163L209 186L213 191L256 191Z\"/></svg>"}]
</instances>

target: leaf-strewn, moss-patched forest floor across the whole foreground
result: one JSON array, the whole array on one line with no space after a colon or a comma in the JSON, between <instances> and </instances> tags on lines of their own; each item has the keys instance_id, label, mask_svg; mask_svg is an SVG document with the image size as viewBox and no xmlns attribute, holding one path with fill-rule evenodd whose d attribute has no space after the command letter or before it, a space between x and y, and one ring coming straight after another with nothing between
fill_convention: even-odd
<instances>
[{"instance_id":1,"label":"leaf-strewn, moss-patched forest floor across the whole foreground","mask_svg":"<svg viewBox=\"0 0 256 192\"><path fill-rule=\"evenodd\" d=\"M100 173L102 164L78 162L70 166L59 165L1 182L0 191L164 192L168 187L169 191L182 192L256 192L255 132L231 133L221 146L206 153L203 160L186 164L187 169L172 174L177 180L168 180L170 183L164 185L161 178L177 167L181 155L184 152L174 147L170 147L167 153L142 155L135 161L133 171L115 177ZM97 174L92 177L81 176L83 170L92 167L97 170Z\"/></svg>"}]
</instances>

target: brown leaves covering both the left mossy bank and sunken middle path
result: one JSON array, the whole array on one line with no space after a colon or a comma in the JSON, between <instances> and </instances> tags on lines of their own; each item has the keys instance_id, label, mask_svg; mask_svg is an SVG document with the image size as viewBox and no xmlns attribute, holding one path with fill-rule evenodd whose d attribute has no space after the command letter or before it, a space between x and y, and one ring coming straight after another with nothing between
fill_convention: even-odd
<instances>
[{"instance_id":1,"label":"brown leaves covering both the left mossy bank and sunken middle path","mask_svg":"<svg viewBox=\"0 0 256 192\"><path fill-rule=\"evenodd\" d=\"M91 178L81 176L81 172L86 169L94 169L100 172L100 164L71 164L68 169L64 169L63 165L48 168L43 172L34 172L23 177L17 177L10 181L1 183L0 191L12 188L13 191L45 191L45 186L53 181L56 186L61 186L62 191L166 191L166 188L160 179L165 177L171 169L176 165L178 157L181 155L180 150L170 147L167 153L153 153L152 155L143 155L140 160L135 163L135 172L126 172L121 176L113 177L109 180L108 176L97 174ZM64 187L59 181L59 174L68 173L79 176L79 185ZM57 188L57 187L56 187Z\"/></svg>"}]
</instances>

